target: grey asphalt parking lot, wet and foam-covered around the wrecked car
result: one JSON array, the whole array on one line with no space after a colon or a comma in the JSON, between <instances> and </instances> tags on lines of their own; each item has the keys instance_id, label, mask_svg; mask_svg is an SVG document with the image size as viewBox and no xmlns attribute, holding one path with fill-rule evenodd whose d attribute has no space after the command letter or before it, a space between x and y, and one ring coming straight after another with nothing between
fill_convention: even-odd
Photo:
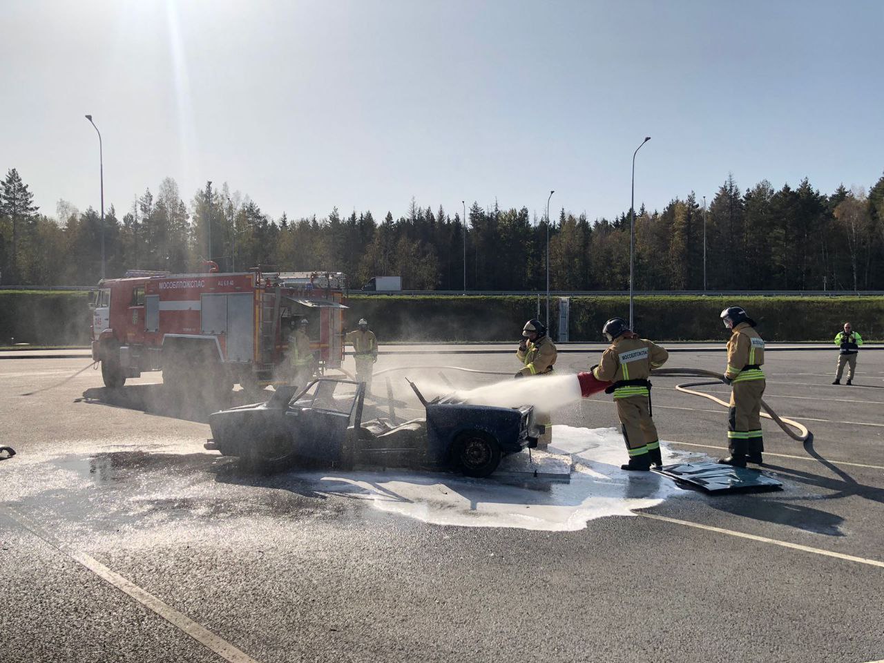
<instances>
[{"instance_id":1,"label":"grey asphalt parking lot, wet and foam-covered around the wrecked car","mask_svg":"<svg viewBox=\"0 0 884 663\"><path fill-rule=\"evenodd\" d=\"M723 368L718 347L689 350L667 368ZM830 384L835 359L766 354L766 401L814 433L802 446L764 423L781 492L711 496L597 463L578 499L446 475L255 474L202 447L208 412L241 392L182 403L158 373L110 392L88 357L0 362L0 444L17 451L0 460L0 659L884 659L884 354L861 354L850 387ZM597 361L586 347L556 369ZM469 388L518 368L492 352L377 362L408 366L436 368L377 377L367 415L420 414L403 374ZM724 408L678 382L654 380L667 458L724 453ZM553 418L616 425L603 394ZM571 519L545 521L553 509Z\"/></svg>"}]
</instances>

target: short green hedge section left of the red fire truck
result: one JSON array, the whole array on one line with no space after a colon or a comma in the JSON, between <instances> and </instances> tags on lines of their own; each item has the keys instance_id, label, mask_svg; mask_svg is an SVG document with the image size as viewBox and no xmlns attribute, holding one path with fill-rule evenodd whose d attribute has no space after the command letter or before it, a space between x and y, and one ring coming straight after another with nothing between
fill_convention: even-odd
<instances>
[{"instance_id":1,"label":"short green hedge section left of the red fire truck","mask_svg":"<svg viewBox=\"0 0 884 663\"><path fill-rule=\"evenodd\" d=\"M0 290L0 344L88 345L89 293Z\"/></svg>"}]
</instances>

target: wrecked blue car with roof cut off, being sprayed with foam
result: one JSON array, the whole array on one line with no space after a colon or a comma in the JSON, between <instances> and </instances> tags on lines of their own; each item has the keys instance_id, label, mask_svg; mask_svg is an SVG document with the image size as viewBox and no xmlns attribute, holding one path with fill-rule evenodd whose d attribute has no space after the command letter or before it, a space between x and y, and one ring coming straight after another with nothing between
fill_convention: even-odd
<instances>
[{"instance_id":1,"label":"wrecked blue car with roof cut off, being sprayed with foam","mask_svg":"<svg viewBox=\"0 0 884 663\"><path fill-rule=\"evenodd\" d=\"M363 422L365 385L320 378L298 393L278 387L265 403L213 413L205 447L265 468L376 466L489 476L503 456L537 446L531 406L471 405L453 394L425 400L408 384L423 418Z\"/></svg>"}]
</instances>

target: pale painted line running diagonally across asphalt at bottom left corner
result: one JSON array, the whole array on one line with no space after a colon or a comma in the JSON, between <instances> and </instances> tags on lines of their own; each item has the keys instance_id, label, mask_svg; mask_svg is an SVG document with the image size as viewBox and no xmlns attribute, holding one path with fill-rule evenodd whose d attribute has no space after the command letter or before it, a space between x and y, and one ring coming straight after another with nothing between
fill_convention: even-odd
<instances>
[{"instance_id":1,"label":"pale painted line running diagonally across asphalt at bottom left corner","mask_svg":"<svg viewBox=\"0 0 884 663\"><path fill-rule=\"evenodd\" d=\"M175 608L164 603L164 601L159 598L156 598L149 591L142 590L137 584L127 580L115 571L111 571L110 568L105 567L100 561L95 560L95 558L91 557L86 552L72 550L68 545L65 545L55 537L43 532L36 524L34 524L34 522L27 518L27 516L19 514L19 512L9 507L5 508L4 512L9 515L12 520L18 522L19 525L34 534L35 537L41 538L58 551L64 552L65 555L88 568L105 583L109 583L119 591L128 594L142 606L145 606L149 610L158 614L165 621L168 621L172 626L177 627L188 636L194 638L196 642L202 644L212 652L217 653L222 659L230 661L230 663L258 663L257 660L253 659L247 653L240 651L222 637L216 636L209 629L206 629L187 617L186 614L179 613Z\"/></svg>"}]
</instances>

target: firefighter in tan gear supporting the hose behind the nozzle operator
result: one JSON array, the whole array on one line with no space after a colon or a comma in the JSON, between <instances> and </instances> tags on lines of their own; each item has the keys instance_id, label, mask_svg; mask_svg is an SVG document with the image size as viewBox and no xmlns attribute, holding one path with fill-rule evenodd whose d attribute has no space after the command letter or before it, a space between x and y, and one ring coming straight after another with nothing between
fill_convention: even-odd
<instances>
[{"instance_id":1,"label":"firefighter in tan gear supporting the hose behind the nozzle operator","mask_svg":"<svg viewBox=\"0 0 884 663\"><path fill-rule=\"evenodd\" d=\"M728 368L724 384L731 385L728 408L728 450L720 463L737 468L747 462L762 464L765 450L761 435L761 397L765 392L765 342L755 331L755 321L739 306L721 311L724 326L731 331L728 340Z\"/></svg>"}]
</instances>

